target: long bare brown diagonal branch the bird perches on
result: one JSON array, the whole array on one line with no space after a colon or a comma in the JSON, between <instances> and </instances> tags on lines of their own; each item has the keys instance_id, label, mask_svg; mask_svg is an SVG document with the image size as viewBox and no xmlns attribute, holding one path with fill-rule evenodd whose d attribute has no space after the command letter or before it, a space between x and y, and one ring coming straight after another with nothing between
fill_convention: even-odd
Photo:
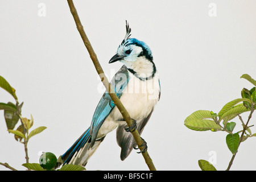
<instances>
[{"instance_id":1,"label":"long bare brown diagonal branch the bird perches on","mask_svg":"<svg viewBox=\"0 0 256 182\"><path fill-rule=\"evenodd\" d=\"M82 41L84 42L85 47L89 52L90 58L93 61L93 64L94 64L94 67L96 68L97 73L100 76L101 81L104 84L106 90L108 91L110 97L112 98L114 104L118 107L118 109L121 112L123 118L127 122L127 125L130 127L131 124L133 123L133 121L132 121L129 113L127 113L127 110L125 109L125 107L122 105L121 101L119 100L119 98L115 94L113 88L110 86L108 78L106 78L105 73L104 73L103 69L101 68L101 65L100 65L100 63L97 59L96 53L93 51L92 45L90 44L89 39L87 38L87 36L85 34L84 27L82 27L79 15L77 14L76 7L75 7L73 1L72 0L67 0L67 1L68 1L69 9L71 10L71 14L73 15L73 18L76 22L77 30L79 31L79 33L81 35L81 38L82 38ZM143 150L143 147L142 147L143 140L140 137L138 131L134 130L134 131L131 131L131 133L133 134L133 137L134 137L135 141L137 142L139 149L142 151ZM145 160L148 168L151 171L155 171L156 168L155 168L155 166L152 162L152 159L148 155L148 152L147 151L142 152L142 155L144 157L144 160Z\"/></svg>"}]
</instances>

